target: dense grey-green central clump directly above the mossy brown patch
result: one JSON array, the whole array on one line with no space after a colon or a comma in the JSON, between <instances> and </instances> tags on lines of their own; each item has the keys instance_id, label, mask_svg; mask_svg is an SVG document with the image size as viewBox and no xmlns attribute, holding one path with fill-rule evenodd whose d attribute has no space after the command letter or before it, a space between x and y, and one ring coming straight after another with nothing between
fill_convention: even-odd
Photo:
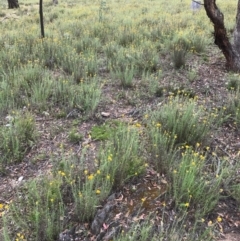
<instances>
[{"instance_id":1,"label":"dense grey-green central clump directly above the mossy brown patch","mask_svg":"<svg viewBox=\"0 0 240 241\"><path fill-rule=\"evenodd\" d=\"M100 160L108 168L110 176L114 177L114 188L121 187L131 177L144 171L141 150L143 147L138 126L121 124L112 133L104 151L100 152Z\"/></svg>"}]
</instances>

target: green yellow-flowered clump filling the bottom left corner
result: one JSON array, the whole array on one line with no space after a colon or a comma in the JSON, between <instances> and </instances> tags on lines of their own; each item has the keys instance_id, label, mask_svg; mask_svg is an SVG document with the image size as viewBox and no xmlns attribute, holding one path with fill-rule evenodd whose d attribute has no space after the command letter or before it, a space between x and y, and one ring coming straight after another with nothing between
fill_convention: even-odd
<instances>
[{"instance_id":1,"label":"green yellow-flowered clump filling the bottom left corner","mask_svg":"<svg viewBox=\"0 0 240 241\"><path fill-rule=\"evenodd\" d=\"M15 240L21 233L29 240L55 240L63 228L64 204L61 185L63 177L48 176L25 183L15 195L9 206L8 216L4 218L5 227L15 226L15 234L4 232L5 240ZM23 195L24 190L27 193ZM11 223L10 220L14 220ZM14 235L14 236L13 236Z\"/></svg>"}]
</instances>

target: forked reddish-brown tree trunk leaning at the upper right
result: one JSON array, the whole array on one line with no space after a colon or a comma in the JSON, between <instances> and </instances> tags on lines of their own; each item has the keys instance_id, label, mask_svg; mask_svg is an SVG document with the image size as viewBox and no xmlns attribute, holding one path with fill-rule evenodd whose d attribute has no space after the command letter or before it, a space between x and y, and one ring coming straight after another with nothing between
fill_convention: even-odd
<instances>
[{"instance_id":1,"label":"forked reddish-brown tree trunk leaning at the upper right","mask_svg":"<svg viewBox=\"0 0 240 241\"><path fill-rule=\"evenodd\" d=\"M207 16L214 26L214 43L223 52L229 70L240 71L240 0L238 1L234 41L230 42L224 25L224 15L216 5L216 0L204 0Z\"/></svg>"}]
</instances>

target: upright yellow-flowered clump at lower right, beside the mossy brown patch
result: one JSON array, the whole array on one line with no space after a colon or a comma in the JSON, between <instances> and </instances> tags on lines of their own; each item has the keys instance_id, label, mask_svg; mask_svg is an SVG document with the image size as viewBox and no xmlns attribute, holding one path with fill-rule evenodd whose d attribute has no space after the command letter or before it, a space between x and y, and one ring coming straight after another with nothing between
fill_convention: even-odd
<instances>
[{"instance_id":1,"label":"upright yellow-flowered clump at lower right, beside the mossy brown patch","mask_svg":"<svg viewBox=\"0 0 240 241\"><path fill-rule=\"evenodd\" d=\"M220 170L220 175L206 172L206 157L198 148L185 148L180 159L176 158L172 163L171 193L176 206L188 208L193 205L204 216L219 201L224 171Z\"/></svg>"}]
</instances>

